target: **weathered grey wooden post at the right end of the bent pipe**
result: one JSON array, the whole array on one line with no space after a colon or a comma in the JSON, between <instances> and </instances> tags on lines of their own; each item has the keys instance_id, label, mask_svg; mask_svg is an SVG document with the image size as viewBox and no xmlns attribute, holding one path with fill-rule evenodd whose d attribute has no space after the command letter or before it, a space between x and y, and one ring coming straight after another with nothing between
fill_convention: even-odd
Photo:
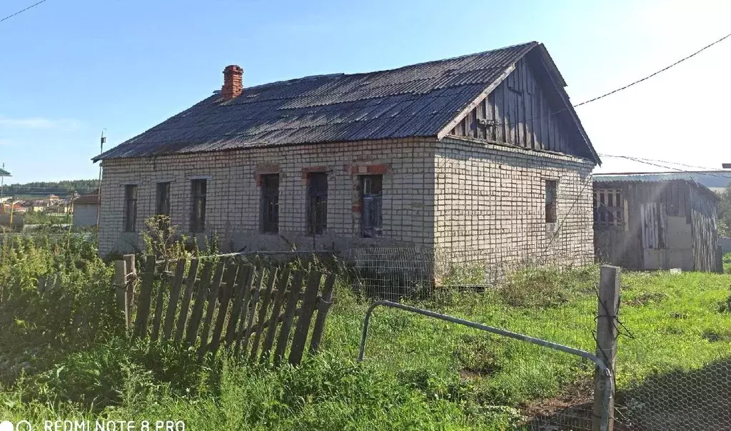
<instances>
[{"instance_id":1,"label":"weathered grey wooden post at the right end of the bent pipe","mask_svg":"<svg viewBox=\"0 0 731 431\"><path fill-rule=\"evenodd\" d=\"M617 325L616 316L619 312L619 267L602 265L599 272L599 304L596 311L596 356L602 359L612 373L617 354ZM614 375L612 376L614 378ZM605 388L612 382L607 381L606 375L594 370L594 423L592 429L599 431L602 423L602 411L605 408ZM607 431L614 429L614 390L607 406L609 410L609 426Z\"/></svg>"}]
</instances>

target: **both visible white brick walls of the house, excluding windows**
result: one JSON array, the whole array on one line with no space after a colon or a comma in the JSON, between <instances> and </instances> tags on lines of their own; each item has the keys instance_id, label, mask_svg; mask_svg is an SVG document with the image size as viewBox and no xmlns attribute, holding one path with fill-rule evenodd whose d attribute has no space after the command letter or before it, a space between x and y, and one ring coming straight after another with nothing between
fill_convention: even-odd
<instances>
[{"instance_id":1,"label":"both visible white brick walls of the house, excluding windows","mask_svg":"<svg viewBox=\"0 0 731 431\"><path fill-rule=\"evenodd\" d=\"M360 212L354 207L359 191L353 172L366 170L365 165L387 167L383 235L377 239L360 237ZM205 231L219 234L224 250L287 250L292 244L311 249L303 169L325 167L327 233L317 236L318 249L433 245L447 259L498 271L523 262L586 264L592 259L589 173L594 165L572 156L448 137L112 159L103 167L102 254L127 251L137 237L121 232L124 184L139 186L139 232L154 212L156 183L172 181L172 221L187 232L190 180L200 176L210 178ZM257 172L277 170L280 234L261 234ZM545 180L558 180L558 224L553 226L545 223Z\"/></svg>"}]
</instances>

